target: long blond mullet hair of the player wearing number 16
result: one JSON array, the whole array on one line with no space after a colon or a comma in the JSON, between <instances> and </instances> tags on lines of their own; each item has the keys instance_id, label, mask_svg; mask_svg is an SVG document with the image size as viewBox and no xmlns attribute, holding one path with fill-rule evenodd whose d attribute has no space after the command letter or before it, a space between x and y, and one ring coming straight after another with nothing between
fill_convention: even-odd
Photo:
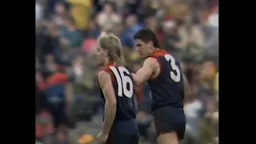
<instances>
[{"instance_id":1,"label":"long blond mullet hair of the player wearing number 16","mask_svg":"<svg viewBox=\"0 0 256 144\"><path fill-rule=\"evenodd\" d=\"M114 34L102 33L98 38L98 45L104 50L108 50L110 62L116 62L118 65L124 65L122 54L122 42Z\"/></svg>"}]
</instances>

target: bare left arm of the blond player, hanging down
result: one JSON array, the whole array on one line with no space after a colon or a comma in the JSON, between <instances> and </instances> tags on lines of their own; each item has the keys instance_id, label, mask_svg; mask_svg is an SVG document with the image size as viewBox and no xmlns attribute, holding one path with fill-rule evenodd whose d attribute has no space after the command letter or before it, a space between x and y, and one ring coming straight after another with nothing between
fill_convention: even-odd
<instances>
[{"instance_id":1,"label":"bare left arm of the blond player, hanging down","mask_svg":"<svg viewBox=\"0 0 256 144\"><path fill-rule=\"evenodd\" d=\"M102 133L109 134L117 110L117 100L115 98L110 74L103 70L100 71L98 73L98 83L106 99Z\"/></svg>"}]
</instances>

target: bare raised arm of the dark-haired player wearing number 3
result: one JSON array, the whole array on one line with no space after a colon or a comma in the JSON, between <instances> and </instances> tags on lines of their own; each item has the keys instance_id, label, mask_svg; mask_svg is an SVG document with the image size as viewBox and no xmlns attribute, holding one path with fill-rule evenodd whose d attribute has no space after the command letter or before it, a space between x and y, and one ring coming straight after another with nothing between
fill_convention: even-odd
<instances>
[{"instance_id":1,"label":"bare raised arm of the dark-haired player wearing number 3","mask_svg":"<svg viewBox=\"0 0 256 144\"><path fill-rule=\"evenodd\" d=\"M155 58L146 58L141 69L133 74L134 82L136 85L141 85L146 82L154 74L154 71L158 68L158 60Z\"/></svg>"}]
</instances>

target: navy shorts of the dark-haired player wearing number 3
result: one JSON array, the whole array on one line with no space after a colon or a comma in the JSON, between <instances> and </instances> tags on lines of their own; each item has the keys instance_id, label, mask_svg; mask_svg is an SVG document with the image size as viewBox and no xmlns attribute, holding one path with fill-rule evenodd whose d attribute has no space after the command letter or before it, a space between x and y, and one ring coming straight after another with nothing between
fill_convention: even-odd
<instances>
[{"instance_id":1,"label":"navy shorts of the dark-haired player wearing number 3","mask_svg":"<svg viewBox=\"0 0 256 144\"><path fill-rule=\"evenodd\" d=\"M154 110L153 116L157 137L159 134L176 132L179 140L184 138L186 118L183 108L163 106Z\"/></svg>"}]
</instances>

